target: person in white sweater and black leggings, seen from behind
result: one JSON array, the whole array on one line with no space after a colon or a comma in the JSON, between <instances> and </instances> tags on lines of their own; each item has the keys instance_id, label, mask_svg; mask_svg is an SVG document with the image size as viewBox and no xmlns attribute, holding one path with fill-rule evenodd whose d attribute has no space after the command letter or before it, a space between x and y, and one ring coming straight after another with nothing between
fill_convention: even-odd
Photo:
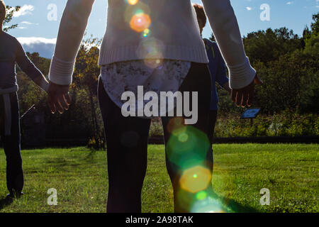
<instances>
[{"instance_id":1,"label":"person in white sweater and black leggings, seen from behind","mask_svg":"<svg viewBox=\"0 0 319 227\"><path fill-rule=\"evenodd\" d=\"M202 2L230 72L232 99L237 105L250 106L259 79L245 55L233 7L229 0ZM48 104L52 113L68 109L74 60L93 4L94 0L67 1L50 67ZM121 114L121 94L137 94L138 86L157 94L198 92L198 121L194 125L185 126L174 116L162 117L174 211L192 211L196 194L211 191L213 157L207 138L211 81L207 63L190 0L108 0L99 58L99 103L108 153L108 212L141 211L150 118ZM184 133L177 135L180 131ZM190 141L196 142L191 145ZM208 171L208 177L204 177L208 182L194 182L205 187L190 189L182 183L187 178L184 175L192 171L196 176Z\"/></svg>"}]
</instances>

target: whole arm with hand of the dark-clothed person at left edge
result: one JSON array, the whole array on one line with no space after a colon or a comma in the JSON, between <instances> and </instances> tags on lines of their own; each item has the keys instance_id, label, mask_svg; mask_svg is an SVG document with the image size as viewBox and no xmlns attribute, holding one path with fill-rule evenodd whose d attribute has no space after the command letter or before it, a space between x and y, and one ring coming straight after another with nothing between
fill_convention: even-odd
<instances>
[{"instance_id":1,"label":"whole arm with hand of the dark-clothed person at left edge","mask_svg":"<svg viewBox=\"0 0 319 227\"><path fill-rule=\"evenodd\" d=\"M16 63L21 68L23 72L25 72L28 77L30 77L35 84L37 84L40 88L42 88L45 92L49 87L49 82L45 79L45 76L38 70L33 62L30 61L26 52L23 50L22 45L17 40L18 49L16 52Z\"/></svg>"}]
</instances>

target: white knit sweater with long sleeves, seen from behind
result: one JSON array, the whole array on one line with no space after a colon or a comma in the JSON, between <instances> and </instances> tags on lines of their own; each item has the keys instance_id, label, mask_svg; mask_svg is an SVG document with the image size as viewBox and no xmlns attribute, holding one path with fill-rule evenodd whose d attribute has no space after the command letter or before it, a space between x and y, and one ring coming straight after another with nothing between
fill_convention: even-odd
<instances>
[{"instance_id":1,"label":"white knit sweater with long sleeves, seen from behind","mask_svg":"<svg viewBox=\"0 0 319 227\"><path fill-rule=\"evenodd\" d=\"M245 55L237 19L229 0L202 0L220 51L230 70L230 87L250 84L256 74ZM94 0L68 0L50 67L55 84L72 82L74 60L86 29ZM142 19L150 18L145 38L130 24L133 12L142 9ZM147 17L148 16L148 17ZM106 33L99 65L145 58L162 58L208 63L199 34L196 13L190 0L108 0Z\"/></svg>"}]
</instances>

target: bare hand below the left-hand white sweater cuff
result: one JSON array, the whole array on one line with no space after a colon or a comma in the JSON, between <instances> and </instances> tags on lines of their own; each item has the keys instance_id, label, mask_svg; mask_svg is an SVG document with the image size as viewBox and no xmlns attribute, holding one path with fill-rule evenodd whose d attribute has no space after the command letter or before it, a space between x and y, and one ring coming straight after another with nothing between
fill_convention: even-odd
<instances>
[{"instance_id":1,"label":"bare hand below the left-hand white sweater cuff","mask_svg":"<svg viewBox=\"0 0 319 227\"><path fill-rule=\"evenodd\" d=\"M64 110L68 110L71 104L69 85L58 85L50 82L47 89L47 104L52 114L55 114L55 111L59 111L62 114Z\"/></svg>"}]
</instances>

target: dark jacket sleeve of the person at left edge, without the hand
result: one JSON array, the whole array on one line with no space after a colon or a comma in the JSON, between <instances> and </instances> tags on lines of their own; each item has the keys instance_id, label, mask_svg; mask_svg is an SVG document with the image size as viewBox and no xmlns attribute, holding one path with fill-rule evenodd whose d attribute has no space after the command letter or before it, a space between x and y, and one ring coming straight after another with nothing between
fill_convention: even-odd
<instances>
[{"instance_id":1,"label":"dark jacket sleeve of the person at left edge, without the hand","mask_svg":"<svg viewBox=\"0 0 319 227\"><path fill-rule=\"evenodd\" d=\"M35 67L35 65L33 65L33 62L30 61L30 59L26 55L26 52L23 50L22 45L18 42L18 40L16 40L16 42L17 42L16 63L18 64L18 66L32 80L38 77L42 77L42 73L40 72L40 70L38 70L37 67Z\"/></svg>"}]
</instances>

